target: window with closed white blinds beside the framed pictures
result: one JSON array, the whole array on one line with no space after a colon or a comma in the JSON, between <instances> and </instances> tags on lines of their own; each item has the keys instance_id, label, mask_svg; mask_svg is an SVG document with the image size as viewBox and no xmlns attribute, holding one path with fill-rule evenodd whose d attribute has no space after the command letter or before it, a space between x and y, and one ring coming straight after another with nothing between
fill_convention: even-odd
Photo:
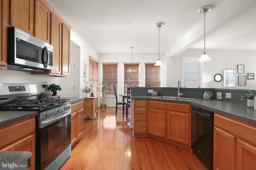
<instances>
[{"instance_id":1,"label":"window with closed white blinds beside the framed pictures","mask_svg":"<svg viewBox=\"0 0 256 170\"><path fill-rule=\"evenodd\" d=\"M203 63L198 58L183 58L183 87L200 87L202 69Z\"/></svg>"}]
</instances>

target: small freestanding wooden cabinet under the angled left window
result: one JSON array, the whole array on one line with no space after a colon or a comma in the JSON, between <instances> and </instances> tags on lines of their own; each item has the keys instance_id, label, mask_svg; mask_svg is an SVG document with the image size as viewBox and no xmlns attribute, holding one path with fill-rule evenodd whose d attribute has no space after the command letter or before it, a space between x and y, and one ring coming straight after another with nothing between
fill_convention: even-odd
<instances>
[{"instance_id":1,"label":"small freestanding wooden cabinet under the angled left window","mask_svg":"<svg viewBox=\"0 0 256 170\"><path fill-rule=\"evenodd\" d=\"M84 116L98 115L98 97L84 98Z\"/></svg>"}]
</instances>

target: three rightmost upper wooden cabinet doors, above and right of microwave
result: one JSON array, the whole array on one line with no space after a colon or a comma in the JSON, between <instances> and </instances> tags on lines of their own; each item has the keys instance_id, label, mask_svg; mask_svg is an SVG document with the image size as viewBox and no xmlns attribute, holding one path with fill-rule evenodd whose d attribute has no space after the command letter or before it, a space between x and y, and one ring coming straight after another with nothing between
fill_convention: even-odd
<instances>
[{"instance_id":1,"label":"three rightmost upper wooden cabinet doors, above and right of microwave","mask_svg":"<svg viewBox=\"0 0 256 170\"><path fill-rule=\"evenodd\" d=\"M36 0L35 36L54 47L53 70L31 72L31 74L49 74L70 76L70 30L72 27L63 20L49 4Z\"/></svg>"}]
</instances>

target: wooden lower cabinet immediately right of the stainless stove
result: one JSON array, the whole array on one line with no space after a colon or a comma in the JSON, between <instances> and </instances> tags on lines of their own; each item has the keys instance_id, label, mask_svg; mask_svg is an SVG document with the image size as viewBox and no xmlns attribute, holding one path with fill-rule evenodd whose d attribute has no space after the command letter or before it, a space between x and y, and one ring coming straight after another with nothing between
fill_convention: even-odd
<instances>
[{"instance_id":1,"label":"wooden lower cabinet immediately right of the stainless stove","mask_svg":"<svg viewBox=\"0 0 256 170\"><path fill-rule=\"evenodd\" d=\"M74 146L84 132L84 101L71 105L71 145Z\"/></svg>"}]
</instances>

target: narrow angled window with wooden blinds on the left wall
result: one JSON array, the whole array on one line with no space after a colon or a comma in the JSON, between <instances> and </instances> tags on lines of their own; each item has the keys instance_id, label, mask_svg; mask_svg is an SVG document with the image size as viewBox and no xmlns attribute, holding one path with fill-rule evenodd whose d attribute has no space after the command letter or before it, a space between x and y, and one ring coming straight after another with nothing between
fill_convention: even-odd
<instances>
[{"instance_id":1,"label":"narrow angled window with wooden blinds on the left wall","mask_svg":"<svg viewBox=\"0 0 256 170\"><path fill-rule=\"evenodd\" d=\"M89 57L89 84L92 85L94 96L99 96L99 64Z\"/></svg>"}]
</instances>

